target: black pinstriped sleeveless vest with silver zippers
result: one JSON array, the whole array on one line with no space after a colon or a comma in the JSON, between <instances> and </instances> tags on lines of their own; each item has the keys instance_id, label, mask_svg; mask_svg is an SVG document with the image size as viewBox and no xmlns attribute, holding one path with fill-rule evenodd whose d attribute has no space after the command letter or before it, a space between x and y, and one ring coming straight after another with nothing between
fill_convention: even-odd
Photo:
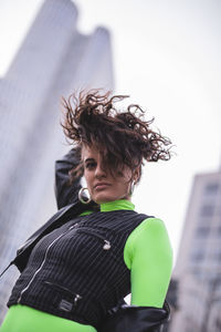
<instances>
[{"instance_id":1,"label":"black pinstriped sleeveless vest with silver zippers","mask_svg":"<svg viewBox=\"0 0 221 332\"><path fill-rule=\"evenodd\" d=\"M96 328L130 292L124 247L146 218L115 210L65 222L35 245L7 305L27 304Z\"/></svg>"}]
</instances>

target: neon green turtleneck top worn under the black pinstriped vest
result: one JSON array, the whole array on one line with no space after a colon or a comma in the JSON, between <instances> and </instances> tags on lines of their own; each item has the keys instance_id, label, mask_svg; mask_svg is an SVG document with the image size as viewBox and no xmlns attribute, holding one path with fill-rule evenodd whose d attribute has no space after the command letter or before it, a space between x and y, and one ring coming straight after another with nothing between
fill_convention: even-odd
<instances>
[{"instance_id":1,"label":"neon green turtleneck top worn under the black pinstriped vest","mask_svg":"<svg viewBox=\"0 0 221 332\"><path fill-rule=\"evenodd\" d=\"M101 204L101 211L134 210L131 201L122 199ZM81 216L92 214L86 211ZM161 308L172 270L172 249L162 220L145 219L129 235L124 261L130 270L133 305ZM9 308L0 332L96 332L91 325L60 318L28 305Z\"/></svg>"}]
</instances>

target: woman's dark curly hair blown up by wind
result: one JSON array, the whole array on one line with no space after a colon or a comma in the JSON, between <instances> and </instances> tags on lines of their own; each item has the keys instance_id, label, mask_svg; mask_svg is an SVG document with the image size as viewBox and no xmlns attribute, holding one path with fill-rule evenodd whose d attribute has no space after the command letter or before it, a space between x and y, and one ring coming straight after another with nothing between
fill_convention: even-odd
<instances>
[{"instance_id":1,"label":"woman's dark curly hair blown up by wind","mask_svg":"<svg viewBox=\"0 0 221 332\"><path fill-rule=\"evenodd\" d=\"M144 160L169 160L171 145L169 138L152 131L150 121L144 120L139 105L130 104L126 111L117 111L115 103L128 95L113 95L99 90L82 91L78 97L71 94L64 97L64 121L61 123L69 144L81 149L83 145L95 146L103 155L104 167L115 176L127 165L131 173ZM107 169L106 168L106 169ZM71 183L83 175L83 163L70 172Z\"/></svg>"}]
</instances>

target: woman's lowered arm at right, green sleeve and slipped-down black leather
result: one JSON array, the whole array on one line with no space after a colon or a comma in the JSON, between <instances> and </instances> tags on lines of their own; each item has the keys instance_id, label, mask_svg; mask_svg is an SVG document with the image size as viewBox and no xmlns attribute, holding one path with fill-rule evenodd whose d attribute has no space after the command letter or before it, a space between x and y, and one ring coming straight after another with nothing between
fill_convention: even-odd
<instances>
[{"instance_id":1,"label":"woman's lowered arm at right, green sleeve and slipped-down black leather","mask_svg":"<svg viewBox=\"0 0 221 332\"><path fill-rule=\"evenodd\" d=\"M164 222L144 220L129 235L124 260L131 271L131 304L113 308L98 332L160 332L169 320L165 301L172 270L172 250Z\"/></svg>"}]
</instances>

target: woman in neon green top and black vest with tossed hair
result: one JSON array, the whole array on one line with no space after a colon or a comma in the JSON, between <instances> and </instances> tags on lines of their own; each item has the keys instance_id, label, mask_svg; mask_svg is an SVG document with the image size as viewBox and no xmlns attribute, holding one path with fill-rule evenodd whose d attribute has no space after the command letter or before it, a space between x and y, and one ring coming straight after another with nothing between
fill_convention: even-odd
<instances>
[{"instance_id":1,"label":"woman in neon green top and black vest with tossed hair","mask_svg":"<svg viewBox=\"0 0 221 332\"><path fill-rule=\"evenodd\" d=\"M171 142L138 105L118 112L124 97L91 91L63 100L62 126L74 147L56 162L59 211L11 262L21 276L1 332L160 331L167 321L168 234L130 198L144 160L169 159ZM122 305L130 291L131 305Z\"/></svg>"}]
</instances>

